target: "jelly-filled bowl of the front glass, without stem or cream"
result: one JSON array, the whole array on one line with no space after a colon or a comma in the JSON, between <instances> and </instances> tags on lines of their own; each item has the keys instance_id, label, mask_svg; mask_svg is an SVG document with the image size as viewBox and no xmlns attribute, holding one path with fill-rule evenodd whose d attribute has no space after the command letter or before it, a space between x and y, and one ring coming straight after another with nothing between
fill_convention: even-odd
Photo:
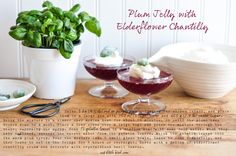
<instances>
[{"instance_id":1,"label":"jelly-filled bowl of the front glass, without stem or cream","mask_svg":"<svg viewBox=\"0 0 236 156\"><path fill-rule=\"evenodd\" d=\"M128 91L139 95L158 93L167 88L173 80L171 74L164 71L161 71L159 78L148 80L131 77L127 69L121 69L118 73L119 83Z\"/></svg>"}]
</instances>

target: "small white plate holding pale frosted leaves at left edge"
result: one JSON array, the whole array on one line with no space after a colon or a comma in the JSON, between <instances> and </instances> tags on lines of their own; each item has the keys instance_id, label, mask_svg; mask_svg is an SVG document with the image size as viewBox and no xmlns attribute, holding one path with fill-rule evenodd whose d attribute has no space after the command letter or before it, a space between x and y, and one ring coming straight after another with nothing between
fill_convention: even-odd
<instances>
[{"instance_id":1,"label":"small white plate holding pale frosted leaves at left edge","mask_svg":"<svg viewBox=\"0 0 236 156\"><path fill-rule=\"evenodd\" d=\"M13 98L12 94L15 90L22 89L25 91L25 96L20 98ZM9 94L11 98L6 101L0 101L0 111L14 109L21 103L28 100L36 91L36 87L26 81L0 79L0 93Z\"/></svg>"}]
</instances>

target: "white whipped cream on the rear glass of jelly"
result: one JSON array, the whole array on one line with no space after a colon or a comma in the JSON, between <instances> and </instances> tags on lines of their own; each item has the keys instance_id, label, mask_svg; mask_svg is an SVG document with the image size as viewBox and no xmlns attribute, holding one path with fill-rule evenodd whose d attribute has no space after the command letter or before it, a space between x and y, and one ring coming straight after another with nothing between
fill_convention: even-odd
<instances>
[{"instance_id":1,"label":"white whipped cream on the rear glass of jelly","mask_svg":"<svg viewBox=\"0 0 236 156\"><path fill-rule=\"evenodd\" d=\"M120 56L116 48L105 47L102 52L103 51L112 51L113 55L106 57L97 56L94 61L96 64L102 66L120 66L123 63L123 58Z\"/></svg>"}]
</instances>

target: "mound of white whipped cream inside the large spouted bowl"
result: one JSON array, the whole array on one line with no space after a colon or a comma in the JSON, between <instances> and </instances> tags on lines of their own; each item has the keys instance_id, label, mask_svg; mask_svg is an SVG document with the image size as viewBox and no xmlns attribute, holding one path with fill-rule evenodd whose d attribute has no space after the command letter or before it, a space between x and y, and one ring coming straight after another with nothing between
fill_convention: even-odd
<instances>
[{"instance_id":1,"label":"mound of white whipped cream inside the large spouted bowl","mask_svg":"<svg viewBox=\"0 0 236 156\"><path fill-rule=\"evenodd\" d=\"M212 63L212 64L229 63L229 60L226 55L224 55L220 50L216 50L211 47L191 49L190 51L185 52L182 58L189 61L201 62L201 63Z\"/></svg>"}]
</instances>

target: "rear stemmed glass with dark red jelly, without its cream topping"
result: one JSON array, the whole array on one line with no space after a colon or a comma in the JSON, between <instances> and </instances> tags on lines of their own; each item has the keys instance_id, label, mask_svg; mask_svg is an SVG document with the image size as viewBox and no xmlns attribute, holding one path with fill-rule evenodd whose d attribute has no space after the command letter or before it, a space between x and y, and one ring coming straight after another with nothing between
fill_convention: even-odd
<instances>
[{"instance_id":1,"label":"rear stemmed glass with dark red jelly, without its cream topping","mask_svg":"<svg viewBox=\"0 0 236 156\"><path fill-rule=\"evenodd\" d=\"M104 85L89 89L89 94L99 98L121 98L129 92L113 81L117 80L117 70L128 68L134 63L134 58L125 57L120 66L102 66L95 63L95 56L87 56L83 60L85 69L94 77L104 81Z\"/></svg>"}]
</instances>

